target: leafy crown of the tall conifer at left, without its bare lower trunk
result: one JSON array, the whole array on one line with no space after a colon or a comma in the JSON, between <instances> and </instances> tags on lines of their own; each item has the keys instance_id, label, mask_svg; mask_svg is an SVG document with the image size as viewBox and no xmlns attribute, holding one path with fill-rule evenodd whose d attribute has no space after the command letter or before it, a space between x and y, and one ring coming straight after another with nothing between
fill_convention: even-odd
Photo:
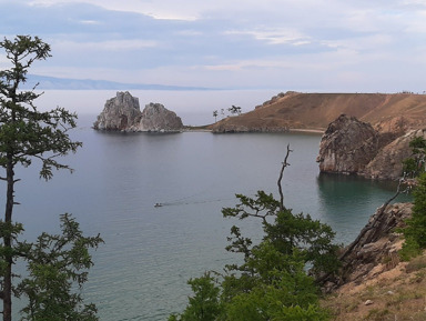
<instances>
[{"instance_id":1,"label":"leafy crown of the tall conifer at left, without its bare lower trunk","mask_svg":"<svg viewBox=\"0 0 426 321\"><path fill-rule=\"evenodd\" d=\"M21 91L28 69L37 60L50 57L49 44L38 37L18 36L0 42L12 67L0 71L0 164L3 168L41 160L40 175L52 178L52 169L69 169L57 161L60 156L75 152L81 142L73 142L68 130L75 128L75 113L63 108L41 112L34 100L42 93Z\"/></svg>"}]
</instances>

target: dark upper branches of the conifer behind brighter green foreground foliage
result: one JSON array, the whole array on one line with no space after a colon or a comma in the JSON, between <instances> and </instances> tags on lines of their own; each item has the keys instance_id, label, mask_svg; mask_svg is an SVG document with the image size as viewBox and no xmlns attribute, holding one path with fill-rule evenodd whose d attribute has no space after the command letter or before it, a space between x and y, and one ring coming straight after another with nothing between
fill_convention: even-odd
<instances>
[{"instance_id":1,"label":"dark upper branches of the conifer behind brighter green foreground foliage","mask_svg":"<svg viewBox=\"0 0 426 321\"><path fill-rule=\"evenodd\" d=\"M308 214L293 214L291 209L280 210L280 202L264 191L258 191L255 198L242 194L236 197L240 203L234 208L223 209L224 217L235 217L240 220L250 217L262 219L265 232L263 241L271 242L285 255L298 251L304 263L311 267L311 272L317 278L337 270L338 247L333 244L335 233L329 225L313 220ZM227 250L242 252L247 260L253 252L251 242L241 235L240 229L235 225L231 229L231 234ZM237 267L236 270L244 270L244 265Z\"/></svg>"}]
</instances>

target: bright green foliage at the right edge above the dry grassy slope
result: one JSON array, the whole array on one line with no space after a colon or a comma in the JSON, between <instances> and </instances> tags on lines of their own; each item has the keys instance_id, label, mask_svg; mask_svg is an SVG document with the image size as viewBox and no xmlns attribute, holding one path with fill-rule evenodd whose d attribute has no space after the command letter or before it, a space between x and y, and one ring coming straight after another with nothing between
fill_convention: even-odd
<instances>
[{"instance_id":1,"label":"bright green foliage at the right edge above the dry grassy slope","mask_svg":"<svg viewBox=\"0 0 426 321\"><path fill-rule=\"evenodd\" d=\"M406 221L403 230L405 243L400 251L404 260L409 260L426 249L426 173L422 173L414 192L412 218Z\"/></svg>"}]
</instances>

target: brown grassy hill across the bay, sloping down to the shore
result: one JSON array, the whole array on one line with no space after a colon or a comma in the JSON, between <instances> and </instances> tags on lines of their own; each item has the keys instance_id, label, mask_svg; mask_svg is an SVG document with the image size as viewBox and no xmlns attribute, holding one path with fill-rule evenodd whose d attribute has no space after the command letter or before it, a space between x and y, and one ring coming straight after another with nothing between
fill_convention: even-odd
<instances>
[{"instance_id":1,"label":"brown grassy hill across the bay, sloping down to the shore","mask_svg":"<svg viewBox=\"0 0 426 321\"><path fill-rule=\"evenodd\" d=\"M212 128L324 130L342 113L385 131L395 123L423 128L426 127L426 94L287 92L253 111L224 119Z\"/></svg>"}]
</instances>

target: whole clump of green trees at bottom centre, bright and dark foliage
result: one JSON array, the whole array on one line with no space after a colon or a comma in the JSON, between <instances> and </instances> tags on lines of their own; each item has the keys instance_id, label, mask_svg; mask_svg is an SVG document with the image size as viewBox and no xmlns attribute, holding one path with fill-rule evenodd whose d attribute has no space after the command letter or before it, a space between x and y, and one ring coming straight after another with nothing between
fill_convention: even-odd
<instances>
[{"instance_id":1,"label":"whole clump of green trees at bottom centre, bright and dark foliage","mask_svg":"<svg viewBox=\"0 0 426 321\"><path fill-rule=\"evenodd\" d=\"M310 215L294 215L263 191L255 198L236 197L240 203L223 209L223 215L260 219L262 241L253 245L232 227L226 250L243 254L242 263L226 265L223 275L207 272L191 279L194 295L169 321L328 320L318 305L315 279L338 269L332 229Z\"/></svg>"}]
</instances>

